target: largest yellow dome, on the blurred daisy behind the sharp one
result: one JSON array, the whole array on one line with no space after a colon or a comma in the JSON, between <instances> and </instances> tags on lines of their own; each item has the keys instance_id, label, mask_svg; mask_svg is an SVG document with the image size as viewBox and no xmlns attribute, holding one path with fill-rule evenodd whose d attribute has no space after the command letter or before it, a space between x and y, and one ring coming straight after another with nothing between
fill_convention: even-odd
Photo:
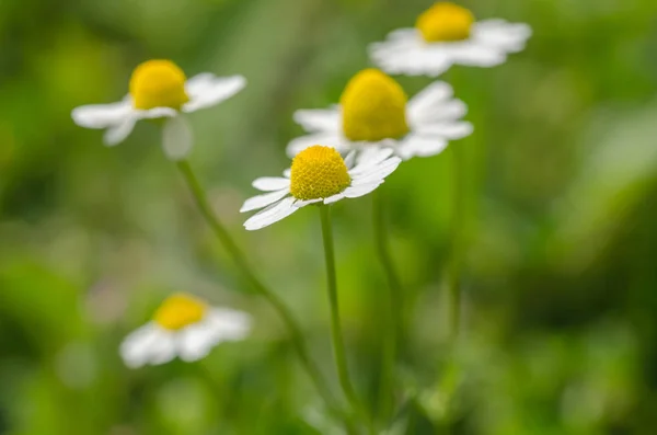
<instances>
[{"instance_id":1,"label":"largest yellow dome, on the blurred daisy behind the sharp one","mask_svg":"<svg viewBox=\"0 0 657 435\"><path fill-rule=\"evenodd\" d=\"M349 140L396 139L408 133L406 94L378 69L365 69L354 76L339 102L343 130Z\"/></svg>"}]
</instances>

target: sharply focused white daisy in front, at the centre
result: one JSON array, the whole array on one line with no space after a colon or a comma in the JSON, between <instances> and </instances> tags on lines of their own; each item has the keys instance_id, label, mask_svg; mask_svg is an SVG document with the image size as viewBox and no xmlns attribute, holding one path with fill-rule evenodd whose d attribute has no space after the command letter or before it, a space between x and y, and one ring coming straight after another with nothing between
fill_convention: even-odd
<instances>
[{"instance_id":1,"label":"sharply focused white daisy in front, at the centre","mask_svg":"<svg viewBox=\"0 0 657 435\"><path fill-rule=\"evenodd\" d=\"M260 208L244 222L249 231L277 222L310 204L333 204L357 198L380 186L402 161L392 149L370 148L346 159L332 147L315 145L299 152L285 176L266 176L253 182L265 194L246 199L241 213Z\"/></svg>"}]
</instances>

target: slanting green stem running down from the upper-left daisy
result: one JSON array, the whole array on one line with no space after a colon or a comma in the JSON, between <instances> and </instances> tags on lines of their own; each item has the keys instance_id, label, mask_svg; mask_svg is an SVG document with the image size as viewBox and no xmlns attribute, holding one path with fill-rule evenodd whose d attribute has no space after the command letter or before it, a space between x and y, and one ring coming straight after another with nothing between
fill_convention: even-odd
<instances>
[{"instance_id":1,"label":"slanting green stem running down from the upper-left daisy","mask_svg":"<svg viewBox=\"0 0 657 435\"><path fill-rule=\"evenodd\" d=\"M306 346L301 329L297 324L297 321L292 317L291 312L283 302L283 300L280 300L278 296L276 296L276 294L269 290L255 275L249 262L246 261L246 256L235 244L233 239L230 237L229 232L226 230L226 228L210 207L205 191L198 182L198 179L194 174L194 171L189 167L189 162L186 160L181 160L176 164L180 171L182 172L185 181L187 182L187 185L192 191L192 195L194 196L196 205L198 206L201 215L204 216L204 218L206 219L206 221L208 222L208 225L210 226L221 244L223 244L238 268L251 283L253 288L272 305L272 307L278 312L278 316L280 316L280 318L283 319L285 325L288 329L295 348L299 354L299 358L301 359L302 366L306 368L306 371L314 382L318 391L326 402L326 405L331 409L331 411L334 414L342 415L339 407L335 403L335 399L333 398L328 386L324 381L324 378L322 377L316 365L310 358L310 354Z\"/></svg>"}]
</instances>

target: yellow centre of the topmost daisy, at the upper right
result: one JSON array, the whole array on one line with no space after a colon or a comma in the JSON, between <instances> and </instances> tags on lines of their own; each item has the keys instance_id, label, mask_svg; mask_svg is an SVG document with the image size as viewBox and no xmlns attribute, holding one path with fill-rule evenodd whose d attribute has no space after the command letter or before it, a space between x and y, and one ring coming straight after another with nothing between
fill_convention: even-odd
<instances>
[{"instance_id":1,"label":"yellow centre of the topmost daisy, at the upper right","mask_svg":"<svg viewBox=\"0 0 657 435\"><path fill-rule=\"evenodd\" d=\"M474 16L454 3L434 4L417 19L415 26L428 43L468 39Z\"/></svg>"}]
</instances>

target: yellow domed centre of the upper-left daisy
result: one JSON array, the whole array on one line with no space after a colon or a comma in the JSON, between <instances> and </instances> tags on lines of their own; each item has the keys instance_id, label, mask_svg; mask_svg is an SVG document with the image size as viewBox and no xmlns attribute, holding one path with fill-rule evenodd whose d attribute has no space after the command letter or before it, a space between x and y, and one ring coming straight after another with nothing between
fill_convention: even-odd
<instances>
[{"instance_id":1,"label":"yellow domed centre of the upper-left daisy","mask_svg":"<svg viewBox=\"0 0 657 435\"><path fill-rule=\"evenodd\" d=\"M171 107L180 111L189 101L185 73L170 60L148 60L132 71L130 95L135 108Z\"/></svg>"}]
</instances>

